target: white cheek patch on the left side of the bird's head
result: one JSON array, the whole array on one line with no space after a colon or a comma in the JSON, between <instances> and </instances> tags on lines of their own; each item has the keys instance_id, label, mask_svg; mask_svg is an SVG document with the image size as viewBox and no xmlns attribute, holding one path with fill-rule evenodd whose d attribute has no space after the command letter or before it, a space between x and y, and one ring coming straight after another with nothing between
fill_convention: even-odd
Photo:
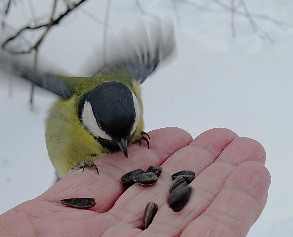
<instances>
[{"instance_id":1,"label":"white cheek patch on the left side of the bird's head","mask_svg":"<svg viewBox=\"0 0 293 237\"><path fill-rule=\"evenodd\" d=\"M101 137L103 139L111 141L111 137L106 134L97 124L95 119L92 106L90 102L85 101L85 105L83 106L82 111L82 123L86 126L86 128L90 131L92 135L95 137Z\"/></svg>"}]
</instances>

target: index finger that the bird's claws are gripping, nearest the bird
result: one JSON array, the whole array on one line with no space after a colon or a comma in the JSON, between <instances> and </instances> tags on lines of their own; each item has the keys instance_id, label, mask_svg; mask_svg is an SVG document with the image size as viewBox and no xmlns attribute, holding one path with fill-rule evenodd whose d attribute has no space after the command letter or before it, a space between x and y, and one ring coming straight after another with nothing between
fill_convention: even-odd
<instances>
[{"instance_id":1,"label":"index finger that the bird's claws are gripping, nearest the bird","mask_svg":"<svg viewBox=\"0 0 293 237\"><path fill-rule=\"evenodd\" d=\"M75 171L64 177L52 188L39 196L46 201L59 203L60 199L73 197L95 198L96 206L92 210L106 212L117 198L125 191L121 177L134 169L147 169L150 165L161 165L169 156L188 145L192 138L189 133L179 128L164 128L149 132L151 148L133 144L129 148L129 158L122 153L112 153L98 161L100 174L94 169Z\"/></svg>"}]
</instances>

